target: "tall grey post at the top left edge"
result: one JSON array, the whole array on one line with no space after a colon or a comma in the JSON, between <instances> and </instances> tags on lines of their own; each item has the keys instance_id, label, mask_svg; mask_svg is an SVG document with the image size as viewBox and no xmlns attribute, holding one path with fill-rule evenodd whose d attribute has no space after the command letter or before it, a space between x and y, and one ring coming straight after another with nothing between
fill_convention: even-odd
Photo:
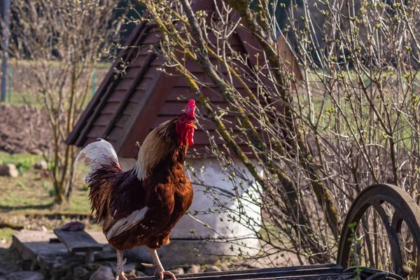
<instances>
[{"instance_id":1,"label":"tall grey post at the top left edge","mask_svg":"<svg viewBox=\"0 0 420 280\"><path fill-rule=\"evenodd\" d=\"M7 59L10 29L10 0L3 0L3 63L1 65L1 101L6 101Z\"/></svg>"}]
</instances>

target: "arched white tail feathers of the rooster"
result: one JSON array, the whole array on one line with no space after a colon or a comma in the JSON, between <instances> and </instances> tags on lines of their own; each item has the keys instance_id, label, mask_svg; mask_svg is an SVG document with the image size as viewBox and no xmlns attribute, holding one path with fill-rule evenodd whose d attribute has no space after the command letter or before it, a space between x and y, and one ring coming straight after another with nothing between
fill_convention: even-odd
<instances>
[{"instance_id":1,"label":"arched white tail feathers of the rooster","mask_svg":"<svg viewBox=\"0 0 420 280\"><path fill-rule=\"evenodd\" d=\"M99 168L109 165L109 160L118 163L117 153L114 150L113 146L104 139L100 139L101 141L93 142L85 148L77 155L76 162L80 158L81 155L86 154L87 157L91 159L89 163L90 172L86 174L86 183L90 185L90 178L92 174ZM75 163L76 163L75 162Z\"/></svg>"}]
</instances>

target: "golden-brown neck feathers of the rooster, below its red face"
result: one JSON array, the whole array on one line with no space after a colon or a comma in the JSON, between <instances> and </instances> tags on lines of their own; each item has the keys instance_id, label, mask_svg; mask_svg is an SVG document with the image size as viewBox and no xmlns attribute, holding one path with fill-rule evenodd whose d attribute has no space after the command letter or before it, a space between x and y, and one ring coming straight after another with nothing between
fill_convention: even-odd
<instances>
[{"instance_id":1,"label":"golden-brown neck feathers of the rooster, below its red face","mask_svg":"<svg viewBox=\"0 0 420 280\"><path fill-rule=\"evenodd\" d=\"M175 119L158 125L144 139L141 145L134 172L139 180L144 180L162 160L181 162L186 158L186 146L179 146L176 134Z\"/></svg>"}]
</instances>

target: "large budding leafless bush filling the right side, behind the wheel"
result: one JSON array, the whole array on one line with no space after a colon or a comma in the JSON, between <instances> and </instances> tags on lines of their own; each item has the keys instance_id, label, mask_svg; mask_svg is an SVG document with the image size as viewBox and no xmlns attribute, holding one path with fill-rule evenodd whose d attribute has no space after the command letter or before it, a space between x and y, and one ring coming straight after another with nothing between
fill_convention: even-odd
<instances>
[{"instance_id":1,"label":"large budding leafless bush filling the right side, behind the wheel","mask_svg":"<svg viewBox=\"0 0 420 280\"><path fill-rule=\"evenodd\" d=\"M229 148L219 151L209 139L232 183L232 192L224 195L239 207L215 201L231 220L251 230L262 227L255 230L262 246L258 257L272 258L272 265L279 265L274 256L285 252L300 264L333 260L342 219L354 197L372 183L393 183L419 202L419 3L304 0L297 11L292 1L288 23L279 30L272 9L286 6L276 1L259 0L255 8L245 0L216 1L211 15L194 13L188 0L141 2L162 31L156 52L196 90L202 113ZM321 20L314 21L309 5L316 6ZM258 57L232 48L229 39L238 28L257 38ZM295 38L302 83L288 70L291 61L279 55L280 31ZM202 95L200 89L210 84L188 71L188 59L202 66L228 109ZM246 94L235 88L237 82ZM256 90L250 84L258 85ZM236 117L241 134L225 127L228 115ZM251 153L238 144L247 144ZM200 176L195 181L214 197L220 194ZM246 185L257 195L246 196ZM247 211L250 204L261 208L261 225ZM380 223L371 214L359 226L356 234L365 242L359 253L389 268ZM414 250L412 260L415 255Z\"/></svg>"}]
</instances>

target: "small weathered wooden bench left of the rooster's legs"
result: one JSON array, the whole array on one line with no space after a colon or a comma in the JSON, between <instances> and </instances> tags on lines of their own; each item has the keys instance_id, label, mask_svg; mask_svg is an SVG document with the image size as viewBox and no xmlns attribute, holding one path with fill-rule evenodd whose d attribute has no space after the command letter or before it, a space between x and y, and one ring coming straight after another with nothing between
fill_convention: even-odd
<instances>
[{"instance_id":1,"label":"small weathered wooden bench left of the rooster's legs","mask_svg":"<svg viewBox=\"0 0 420 280\"><path fill-rule=\"evenodd\" d=\"M66 230L54 230L59 241L66 246L69 253L85 252L85 262L90 263L94 261L94 252L102 251L104 247L95 241L87 232L84 230L78 231L66 231Z\"/></svg>"}]
</instances>

